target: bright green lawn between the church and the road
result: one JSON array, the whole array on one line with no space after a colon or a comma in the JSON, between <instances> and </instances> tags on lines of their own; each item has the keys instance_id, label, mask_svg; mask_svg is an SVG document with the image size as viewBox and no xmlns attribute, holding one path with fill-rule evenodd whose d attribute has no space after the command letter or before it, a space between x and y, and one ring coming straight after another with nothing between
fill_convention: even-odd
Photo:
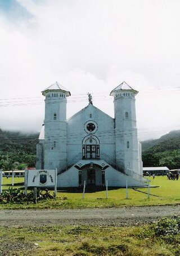
<instances>
[{"instance_id":1,"label":"bright green lawn between the church and the road","mask_svg":"<svg viewBox=\"0 0 180 256\"><path fill-rule=\"evenodd\" d=\"M10 187L11 180L11 178L3 178L3 189ZM166 176L156 176L154 180L150 177L150 180L151 186L159 186L150 188L150 198L147 198L147 188L137 188L137 190L129 188L128 199L125 199L124 188L108 191L108 199L106 199L106 191L86 193L84 199L82 199L82 192L59 191L55 200L41 201L36 205L33 203L1 204L0 209L110 208L180 203L180 180L168 180ZM22 182L23 178L15 178L14 187L23 187Z\"/></svg>"}]
</instances>

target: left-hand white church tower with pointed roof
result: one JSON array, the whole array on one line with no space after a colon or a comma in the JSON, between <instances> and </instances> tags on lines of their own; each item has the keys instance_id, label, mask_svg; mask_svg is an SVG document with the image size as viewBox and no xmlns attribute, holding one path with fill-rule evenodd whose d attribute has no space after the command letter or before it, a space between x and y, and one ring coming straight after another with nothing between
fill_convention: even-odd
<instances>
[{"instance_id":1,"label":"left-hand white church tower with pointed roof","mask_svg":"<svg viewBox=\"0 0 180 256\"><path fill-rule=\"evenodd\" d=\"M44 118L44 169L64 169L67 161L66 98L70 92L58 82L47 87Z\"/></svg>"}]
</instances>

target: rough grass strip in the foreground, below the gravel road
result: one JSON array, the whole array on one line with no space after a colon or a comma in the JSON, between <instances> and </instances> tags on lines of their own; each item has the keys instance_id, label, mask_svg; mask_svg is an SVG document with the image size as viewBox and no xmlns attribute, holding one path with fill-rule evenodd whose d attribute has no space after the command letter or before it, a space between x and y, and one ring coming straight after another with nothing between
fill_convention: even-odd
<instances>
[{"instance_id":1,"label":"rough grass strip in the foreground, below the gravel road","mask_svg":"<svg viewBox=\"0 0 180 256\"><path fill-rule=\"evenodd\" d=\"M180 234L159 236L155 224L129 228L0 227L0 254L178 256L179 239Z\"/></svg>"}]
</instances>

